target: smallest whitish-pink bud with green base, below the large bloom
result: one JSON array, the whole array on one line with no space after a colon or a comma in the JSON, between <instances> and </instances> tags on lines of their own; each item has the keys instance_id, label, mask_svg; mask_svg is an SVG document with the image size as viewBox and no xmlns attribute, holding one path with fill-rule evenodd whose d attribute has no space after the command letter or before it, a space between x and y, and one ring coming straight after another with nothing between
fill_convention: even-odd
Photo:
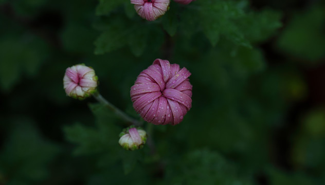
<instances>
[{"instance_id":1,"label":"smallest whitish-pink bud with green base, below the large bloom","mask_svg":"<svg viewBox=\"0 0 325 185\"><path fill-rule=\"evenodd\" d=\"M125 150L137 150L141 149L147 141L146 131L141 130L140 128L126 128L120 134L120 140L118 143Z\"/></svg>"}]
</instances>

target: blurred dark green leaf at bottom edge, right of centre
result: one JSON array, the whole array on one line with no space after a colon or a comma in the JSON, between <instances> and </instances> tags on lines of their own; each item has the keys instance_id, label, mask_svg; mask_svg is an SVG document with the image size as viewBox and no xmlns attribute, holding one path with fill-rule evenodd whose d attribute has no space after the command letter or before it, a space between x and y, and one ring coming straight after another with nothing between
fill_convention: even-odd
<instances>
[{"instance_id":1,"label":"blurred dark green leaf at bottom edge, right of centre","mask_svg":"<svg viewBox=\"0 0 325 185\"><path fill-rule=\"evenodd\" d=\"M168 170L172 184L252 184L241 179L233 164L209 150L191 152Z\"/></svg>"}]
</instances>

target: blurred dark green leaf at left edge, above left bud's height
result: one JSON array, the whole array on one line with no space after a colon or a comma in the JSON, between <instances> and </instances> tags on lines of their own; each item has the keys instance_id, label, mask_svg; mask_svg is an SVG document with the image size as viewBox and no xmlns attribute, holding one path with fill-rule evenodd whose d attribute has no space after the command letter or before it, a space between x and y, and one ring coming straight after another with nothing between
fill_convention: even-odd
<instances>
[{"instance_id":1,"label":"blurred dark green leaf at left edge, above left bud's height","mask_svg":"<svg viewBox=\"0 0 325 185\"><path fill-rule=\"evenodd\" d=\"M13 49L14 48L14 49ZM47 45L30 34L0 40L0 85L11 90L23 73L34 76L48 55Z\"/></svg>"}]
</instances>

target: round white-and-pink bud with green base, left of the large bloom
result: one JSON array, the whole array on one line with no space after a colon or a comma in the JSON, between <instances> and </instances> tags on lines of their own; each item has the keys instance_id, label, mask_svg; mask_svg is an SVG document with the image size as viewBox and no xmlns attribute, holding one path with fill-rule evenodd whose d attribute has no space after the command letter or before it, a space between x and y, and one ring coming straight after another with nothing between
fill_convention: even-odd
<instances>
[{"instance_id":1,"label":"round white-and-pink bud with green base, left of the large bloom","mask_svg":"<svg viewBox=\"0 0 325 185\"><path fill-rule=\"evenodd\" d=\"M69 97L83 100L96 92L98 77L94 69L83 64L68 67L63 78L63 87Z\"/></svg>"}]
</instances>

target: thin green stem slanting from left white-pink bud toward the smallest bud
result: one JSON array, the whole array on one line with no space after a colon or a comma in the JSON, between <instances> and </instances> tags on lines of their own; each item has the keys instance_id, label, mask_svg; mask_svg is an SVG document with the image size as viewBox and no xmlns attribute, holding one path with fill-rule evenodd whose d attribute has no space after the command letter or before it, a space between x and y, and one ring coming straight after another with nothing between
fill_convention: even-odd
<instances>
[{"instance_id":1,"label":"thin green stem slanting from left white-pink bud toward the smallest bud","mask_svg":"<svg viewBox=\"0 0 325 185\"><path fill-rule=\"evenodd\" d=\"M99 93L95 93L94 98L101 104L105 105L107 108L112 110L117 116L119 116L124 121L127 121L129 123L132 123L135 126L140 126L141 123L133 118L131 118L129 115L124 113L122 110L118 109L116 106L114 106L112 103L107 101L103 96L101 96Z\"/></svg>"}]
</instances>

